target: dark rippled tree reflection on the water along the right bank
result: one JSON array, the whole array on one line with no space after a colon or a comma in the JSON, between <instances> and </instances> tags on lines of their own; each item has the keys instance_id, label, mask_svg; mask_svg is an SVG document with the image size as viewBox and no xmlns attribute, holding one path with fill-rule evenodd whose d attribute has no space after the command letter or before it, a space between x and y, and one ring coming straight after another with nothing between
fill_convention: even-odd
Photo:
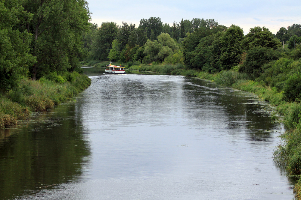
<instances>
[{"instance_id":1,"label":"dark rippled tree reflection on the water along the right bank","mask_svg":"<svg viewBox=\"0 0 301 200\"><path fill-rule=\"evenodd\" d=\"M187 79L184 86L187 108L194 123L214 124L245 132L250 141L268 142L275 123L263 112L264 105L256 97L231 88L217 88L207 81ZM213 125L214 126L214 125ZM231 136L235 137L232 133Z\"/></svg>"}]
</instances>

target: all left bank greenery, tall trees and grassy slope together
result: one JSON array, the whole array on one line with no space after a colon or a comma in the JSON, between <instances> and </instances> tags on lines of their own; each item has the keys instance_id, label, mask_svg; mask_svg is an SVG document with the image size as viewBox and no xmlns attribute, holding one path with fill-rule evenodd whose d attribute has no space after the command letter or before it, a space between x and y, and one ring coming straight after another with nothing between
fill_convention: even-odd
<instances>
[{"instance_id":1,"label":"all left bank greenery, tall trees and grassy slope together","mask_svg":"<svg viewBox=\"0 0 301 200\"><path fill-rule=\"evenodd\" d=\"M0 1L0 128L52 108L83 91L90 79L86 1ZM38 80L38 81L36 81Z\"/></svg>"}]
</instances>

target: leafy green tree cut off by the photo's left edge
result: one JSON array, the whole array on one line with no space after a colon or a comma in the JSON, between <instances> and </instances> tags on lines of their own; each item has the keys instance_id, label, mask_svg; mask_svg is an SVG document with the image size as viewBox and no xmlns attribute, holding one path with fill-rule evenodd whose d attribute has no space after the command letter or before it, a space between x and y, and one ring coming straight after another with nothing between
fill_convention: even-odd
<instances>
[{"instance_id":1,"label":"leafy green tree cut off by the photo's left edge","mask_svg":"<svg viewBox=\"0 0 301 200\"><path fill-rule=\"evenodd\" d=\"M29 66L36 62L30 54L32 34L19 30L20 23L27 23L33 14L24 11L16 0L0 1L0 90L17 86L27 76Z\"/></svg>"}]
</instances>

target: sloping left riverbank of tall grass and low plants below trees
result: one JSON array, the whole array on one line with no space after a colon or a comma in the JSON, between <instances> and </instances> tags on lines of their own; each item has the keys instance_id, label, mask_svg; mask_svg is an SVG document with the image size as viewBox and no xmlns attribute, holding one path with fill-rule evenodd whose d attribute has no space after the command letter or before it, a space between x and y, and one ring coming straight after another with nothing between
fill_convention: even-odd
<instances>
[{"instance_id":1,"label":"sloping left riverbank of tall grass and low plants below trees","mask_svg":"<svg viewBox=\"0 0 301 200\"><path fill-rule=\"evenodd\" d=\"M53 108L82 92L91 80L77 72L50 74L38 81L23 78L17 88L0 94L0 128L17 124L31 112Z\"/></svg>"}]
</instances>

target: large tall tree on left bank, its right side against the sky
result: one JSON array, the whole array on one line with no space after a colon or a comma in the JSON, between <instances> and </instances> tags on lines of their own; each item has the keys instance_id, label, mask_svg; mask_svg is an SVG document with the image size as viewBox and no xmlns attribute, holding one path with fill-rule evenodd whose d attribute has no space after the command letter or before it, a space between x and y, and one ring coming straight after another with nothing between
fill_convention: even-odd
<instances>
[{"instance_id":1,"label":"large tall tree on left bank, its right side against the sky","mask_svg":"<svg viewBox=\"0 0 301 200\"><path fill-rule=\"evenodd\" d=\"M35 80L48 71L79 69L79 59L86 55L82 31L89 27L89 10L85 0L28 0L24 10L33 13L31 21L21 26L33 34L32 55L37 62L31 67Z\"/></svg>"}]
</instances>

